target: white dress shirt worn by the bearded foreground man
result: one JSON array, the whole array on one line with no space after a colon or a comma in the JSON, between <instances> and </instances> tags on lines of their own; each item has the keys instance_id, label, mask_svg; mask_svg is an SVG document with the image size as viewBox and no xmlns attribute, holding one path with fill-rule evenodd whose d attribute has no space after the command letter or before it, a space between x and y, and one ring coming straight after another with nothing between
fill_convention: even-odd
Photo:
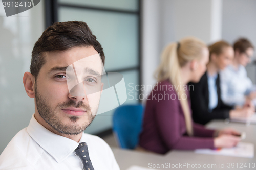
<instances>
[{"instance_id":1,"label":"white dress shirt worn by the bearded foreground man","mask_svg":"<svg viewBox=\"0 0 256 170\"><path fill-rule=\"evenodd\" d=\"M80 142L88 145L95 170L119 170L109 145L101 138L83 133ZM47 130L37 122L34 114L29 126L19 131L0 155L0 169L83 169L75 155L78 143Z\"/></svg>"}]
</instances>

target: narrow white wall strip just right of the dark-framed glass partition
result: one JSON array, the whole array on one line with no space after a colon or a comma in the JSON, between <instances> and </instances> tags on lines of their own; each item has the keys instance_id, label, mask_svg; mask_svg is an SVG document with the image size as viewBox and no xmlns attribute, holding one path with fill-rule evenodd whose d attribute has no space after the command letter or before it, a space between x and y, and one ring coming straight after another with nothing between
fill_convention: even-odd
<instances>
[{"instance_id":1,"label":"narrow white wall strip just right of the dark-framed glass partition","mask_svg":"<svg viewBox=\"0 0 256 170\"><path fill-rule=\"evenodd\" d=\"M154 85L154 71L159 63L160 44L160 10L159 0L142 1L142 84ZM150 90L142 91L144 94Z\"/></svg>"}]
</instances>

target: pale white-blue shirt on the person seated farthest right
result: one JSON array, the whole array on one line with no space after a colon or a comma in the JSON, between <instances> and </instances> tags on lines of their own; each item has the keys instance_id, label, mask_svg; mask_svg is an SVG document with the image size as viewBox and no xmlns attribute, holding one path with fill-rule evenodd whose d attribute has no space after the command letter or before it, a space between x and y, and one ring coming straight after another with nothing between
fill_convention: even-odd
<instances>
[{"instance_id":1,"label":"pale white-blue shirt on the person seated farthest right","mask_svg":"<svg viewBox=\"0 0 256 170\"><path fill-rule=\"evenodd\" d=\"M245 102L245 95L253 90L253 84L247 77L245 67L239 65L238 69L235 69L229 65L220 72L220 78L222 101L228 105L242 106Z\"/></svg>"}]
</instances>

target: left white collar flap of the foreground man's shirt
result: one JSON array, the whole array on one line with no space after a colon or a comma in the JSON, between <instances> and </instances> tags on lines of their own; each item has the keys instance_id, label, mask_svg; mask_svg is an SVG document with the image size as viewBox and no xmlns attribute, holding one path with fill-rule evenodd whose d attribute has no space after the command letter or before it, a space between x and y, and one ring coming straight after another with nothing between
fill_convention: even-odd
<instances>
[{"instance_id":1,"label":"left white collar flap of the foreground man's shirt","mask_svg":"<svg viewBox=\"0 0 256 170\"><path fill-rule=\"evenodd\" d=\"M42 149L48 152L58 163L66 159L78 147L76 141L57 135L39 124L32 115L27 132Z\"/></svg>"}]
</instances>

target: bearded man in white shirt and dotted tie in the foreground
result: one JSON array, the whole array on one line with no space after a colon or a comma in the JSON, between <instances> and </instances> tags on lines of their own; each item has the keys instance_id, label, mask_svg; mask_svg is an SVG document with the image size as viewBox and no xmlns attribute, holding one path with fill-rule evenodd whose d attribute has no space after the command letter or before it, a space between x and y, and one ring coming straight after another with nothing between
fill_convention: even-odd
<instances>
[{"instance_id":1,"label":"bearded man in white shirt and dotted tie in the foreground","mask_svg":"<svg viewBox=\"0 0 256 170\"><path fill-rule=\"evenodd\" d=\"M103 49L84 22L57 22L42 33L32 51L31 73L23 77L28 96L35 98L35 113L1 154L0 169L119 169L109 145L83 133L97 113L100 96L76 95L66 80L71 79L68 66L93 55L103 66ZM83 81L95 83L102 68L88 65Z\"/></svg>"}]
</instances>

